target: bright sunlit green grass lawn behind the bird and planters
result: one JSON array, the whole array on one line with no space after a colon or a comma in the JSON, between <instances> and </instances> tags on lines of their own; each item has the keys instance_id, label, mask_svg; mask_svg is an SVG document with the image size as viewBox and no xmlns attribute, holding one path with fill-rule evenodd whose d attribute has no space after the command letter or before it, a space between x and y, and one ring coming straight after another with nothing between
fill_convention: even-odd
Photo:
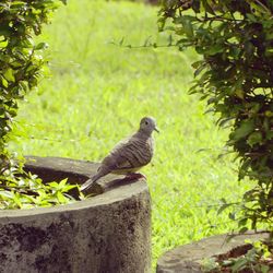
<instances>
[{"instance_id":1,"label":"bright sunlit green grass lawn behind the bird and planters","mask_svg":"<svg viewBox=\"0 0 273 273\"><path fill-rule=\"evenodd\" d=\"M124 37L142 45L151 35L166 44L156 16L156 8L132 2L70 0L59 9L43 36L51 75L21 105L25 136L10 144L22 154L99 161L143 116L154 116L162 132L153 164L143 169L153 202L154 265L168 249L229 230L226 214L206 207L221 198L237 200L246 188L230 158L217 159L228 132L187 94L194 52L110 44Z\"/></svg>"}]
</instances>

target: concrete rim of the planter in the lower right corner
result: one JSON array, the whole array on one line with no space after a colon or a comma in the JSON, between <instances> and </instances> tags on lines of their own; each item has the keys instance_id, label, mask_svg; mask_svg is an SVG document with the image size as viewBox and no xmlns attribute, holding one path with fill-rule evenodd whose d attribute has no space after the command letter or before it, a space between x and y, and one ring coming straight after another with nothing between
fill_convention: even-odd
<instances>
[{"instance_id":1,"label":"concrete rim of the planter in the lower right corner","mask_svg":"<svg viewBox=\"0 0 273 273\"><path fill-rule=\"evenodd\" d=\"M227 241L227 235L218 235L185 245L165 252L157 261L156 273L201 273L203 259L223 256L246 245L245 240L257 241L269 238L269 233L248 233Z\"/></svg>"}]
</instances>

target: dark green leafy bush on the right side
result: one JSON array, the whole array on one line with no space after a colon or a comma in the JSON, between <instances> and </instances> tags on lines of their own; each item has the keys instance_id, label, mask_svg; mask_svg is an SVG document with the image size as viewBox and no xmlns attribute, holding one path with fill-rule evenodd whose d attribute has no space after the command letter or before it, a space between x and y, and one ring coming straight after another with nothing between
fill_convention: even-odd
<instances>
[{"instance_id":1,"label":"dark green leafy bush on the right side","mask_svg":"<svg viewBox=\"0 0 273 273\"><path fill-rule=\"evenodd\" d=\"M238 155L239 179L257 181L242 201L252 228L272 228L273 218L272 15L271 0L164 0L159 19L177 47L203 57L192 64L190 93L206 99L221 127L230 127L227 145Z\"/></svg>"}]
</instances>

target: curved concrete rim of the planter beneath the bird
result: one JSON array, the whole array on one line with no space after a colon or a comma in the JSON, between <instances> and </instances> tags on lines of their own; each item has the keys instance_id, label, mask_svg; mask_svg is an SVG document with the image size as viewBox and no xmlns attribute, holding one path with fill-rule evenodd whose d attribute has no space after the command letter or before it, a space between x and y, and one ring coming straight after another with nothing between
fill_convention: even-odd
<instances>
[{"instance_id":1,"label":"curved concrete rim of the planter beneath the bird","mask_svg":"<svg viewBox=\"0 0 273 273\"><path fill-rule=\"evenodd\" d=\"M60 181L68 178L69 183L82 185L93 174L96 173L98 163L75 161L66 157L38 157L26 156L26 164L24 169L37 175L44 182ZM104 187L107 183L111 183L116 180L117 175L108 175L100 180L100 185ZM97 194L81 202L75 202L67 205L58 205L52 207L37 207L35 210L2 210L0 211L0 221L3 223L11 217L22 217L29 215L37 215L40 213L56 213L57 211L67 211L68 209L80 210L88 209L91 206L99 206L114 202L119 202L124 199L131 199L133 195L138 195L140 192L147 191L149 187L145 179L132 180L127 183L117 183L115 187L105 187L104 194ZM149 193L150 195L150 193Z\"/></svg>"}]
</instances>

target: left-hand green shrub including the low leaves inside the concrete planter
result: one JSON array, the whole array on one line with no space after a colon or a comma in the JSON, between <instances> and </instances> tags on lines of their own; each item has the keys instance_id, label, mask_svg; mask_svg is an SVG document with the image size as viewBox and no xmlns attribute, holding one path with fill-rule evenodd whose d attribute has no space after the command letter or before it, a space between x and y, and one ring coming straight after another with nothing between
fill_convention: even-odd
<instances>
[{"instance_id":1,"label":"left-hand green shrub including the low leaves inside the concrete planter","mask_svg":"<svg viewBox=\"0 0 273 273\"><path fill-rule=\"evenodd\" d=\"M64 3L64 0L61 0ZM41 25L49 22L59 0L3 0L0 3L0 209L66 203L66 181L44 186L24 174L19 158L7 150L9 133L17 114L19 100L37 85L46 60L45 43L35 44ZM22 178L24 177L24 179Z\"/></svg>"}]
</instances>

